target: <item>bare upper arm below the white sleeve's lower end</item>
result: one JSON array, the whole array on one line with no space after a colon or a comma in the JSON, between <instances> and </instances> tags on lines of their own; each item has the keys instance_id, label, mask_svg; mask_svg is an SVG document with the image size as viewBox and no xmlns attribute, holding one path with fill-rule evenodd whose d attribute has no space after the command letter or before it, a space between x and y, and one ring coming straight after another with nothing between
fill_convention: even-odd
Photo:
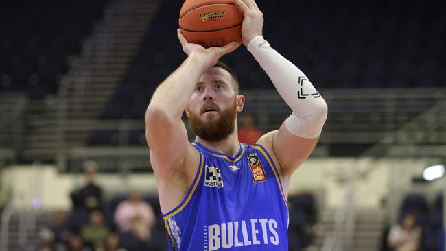
<instances>
[{"instance_id":1,"label":"bare upper arm below the white sleeve's lower end","mask_svg":"<svg viewBox=\"0 0 446 251\"><path fill-rule=\"evenodd\" d=\"M311 154L319 138L305 139L287 130L285 123L274 135L272 147L285 174L292 174Z\"/></svg>"}]
</instances>

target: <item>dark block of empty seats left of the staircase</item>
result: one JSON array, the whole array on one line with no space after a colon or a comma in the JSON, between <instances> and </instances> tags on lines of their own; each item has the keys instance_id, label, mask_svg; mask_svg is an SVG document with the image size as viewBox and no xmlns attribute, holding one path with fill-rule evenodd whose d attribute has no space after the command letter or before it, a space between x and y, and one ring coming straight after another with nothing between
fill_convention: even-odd
<instances>
[{"instance_id":1,"label":"dark block of empty seats left of the staircase","mask_svg":"<svg viewBox=\"0 0 446 251\"><path fill-rule=\"evenodd\" d=\"M32 99L56 93L69 57L80 53L108 0L0 3L0 91Z\"/></svg>"}]
</instances>

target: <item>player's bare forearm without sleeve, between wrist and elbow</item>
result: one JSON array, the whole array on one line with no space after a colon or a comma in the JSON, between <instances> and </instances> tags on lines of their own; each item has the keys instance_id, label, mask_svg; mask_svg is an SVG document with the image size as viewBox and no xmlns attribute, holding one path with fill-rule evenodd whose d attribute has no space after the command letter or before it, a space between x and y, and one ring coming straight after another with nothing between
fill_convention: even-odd
<instances>
[{"instance_id":1,"label":"player's bare forearm without sleeve, between wrist and elbow","mask_svg":"<svg viewBox=\"0 0 446 251\"><path fill-rule=\"evenodd\" d=\"M200 76L206 71L204 68L196 54L188 56L185 62L156 88L146 118L150 110L157 110L172 119L180 119Z\"/></svg>"}]
</instances>

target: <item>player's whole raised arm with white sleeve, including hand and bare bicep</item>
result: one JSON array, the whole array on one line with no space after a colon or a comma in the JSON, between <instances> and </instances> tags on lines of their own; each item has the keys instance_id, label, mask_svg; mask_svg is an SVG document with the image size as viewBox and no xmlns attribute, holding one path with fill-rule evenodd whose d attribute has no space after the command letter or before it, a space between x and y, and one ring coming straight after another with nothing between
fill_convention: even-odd
<instances>
[{"instance_id":1,"label":"player's whole raised arm with white sleeve, including hand and bare bicep","mask_svg":"<svg viewBox=\"0 0 446 251\"><path fill-rule=\"evenodd\" d=\"M255 1L237 0L237 5L245 16L242 26L244 45L293 111L278 131L259 139L259 143L270 148L277 157L283 175L290 175L316 146L327 119L327 104L307 76L263 38L263 14Z\"/></svg>"}]
</instances>

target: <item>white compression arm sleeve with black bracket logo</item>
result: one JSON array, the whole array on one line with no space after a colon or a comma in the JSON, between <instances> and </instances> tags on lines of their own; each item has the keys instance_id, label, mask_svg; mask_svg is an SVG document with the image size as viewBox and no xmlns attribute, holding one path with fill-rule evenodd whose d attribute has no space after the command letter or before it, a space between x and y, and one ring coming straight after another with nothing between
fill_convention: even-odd
<instances>
[{"instance_id":1,"label":"white compression arm sleeve with black bracket logo","mask_svg":"<svg viewBox=\"0 0 446 251\"><path fill-rule=\"evenodd\" d=\"M327 104L316 88L292 62L281 56L261 36L250 41L248 51L268 74L272 84L290 106L292 115L285 121L294 135L314 139L327 119Z\"/></svg>"}]
</instances>

